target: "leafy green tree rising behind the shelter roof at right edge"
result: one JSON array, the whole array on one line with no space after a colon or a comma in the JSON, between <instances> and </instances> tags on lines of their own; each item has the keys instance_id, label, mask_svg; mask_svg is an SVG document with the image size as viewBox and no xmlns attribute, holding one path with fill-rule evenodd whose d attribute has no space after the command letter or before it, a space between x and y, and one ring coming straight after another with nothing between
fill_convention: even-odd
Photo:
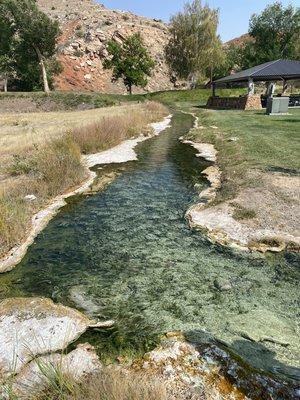
<instances>
[{"instance_id":1,"label":"leafy green tree rising behind the shelter roof at right edge","mask_svg":"<svg viewBox=\"0 0 300 400\"><path fill-rule=\"evenodd\" d=\"M280 2L267 6L251 17L249 34L254 41L244 48L244 68L281 58L297 59L300 8L284 7Z\"/></svg>"}]
</instances>

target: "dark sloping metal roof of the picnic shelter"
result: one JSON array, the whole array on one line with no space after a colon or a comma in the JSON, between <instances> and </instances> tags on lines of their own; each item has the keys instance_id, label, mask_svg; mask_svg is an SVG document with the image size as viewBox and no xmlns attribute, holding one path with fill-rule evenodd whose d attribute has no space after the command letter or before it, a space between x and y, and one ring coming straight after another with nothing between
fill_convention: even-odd
<instances>
[{"instance_id":1,"label":"dark sloping metal roof of the picnic shelter","mask_svg":"<svg viewBox=\"0 0 300 400\"><path fill-rule=\"evenodd\" d=\"M226 76L225 78L218 79L214 83L246 82L249 78L252 78L254 81L300 79L300 61L269 61L236 74Z\"/></svg>"}]
</instances>

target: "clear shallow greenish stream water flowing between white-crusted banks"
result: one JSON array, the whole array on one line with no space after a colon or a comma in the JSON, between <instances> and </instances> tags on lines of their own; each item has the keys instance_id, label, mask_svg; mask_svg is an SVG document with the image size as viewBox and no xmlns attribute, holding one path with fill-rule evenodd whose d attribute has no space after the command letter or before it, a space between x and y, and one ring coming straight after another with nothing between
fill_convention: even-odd
<instances>
[{"instance_id":1,"label":"clear shallow greenish stream water flowing between white-crusted banks","mask_svg":"<svg viewBox=\"0 0 300 400\"><path fill-rule=\"evenodd\" d=\"M250 365L299 380L299 256L232 251L188 227L185 212L199 200L195 184L207 185L208 165L178 141L192 124L175 113L171 128L139 144L137 162L99 170L118 177L61 210L0 276L0 296L46 296L116 319L113 331L88 333L100 353L148 349L158 334L183 330L211 334ZM218 280L232 289L220 291Z\"/></svg>"}]
</instances>

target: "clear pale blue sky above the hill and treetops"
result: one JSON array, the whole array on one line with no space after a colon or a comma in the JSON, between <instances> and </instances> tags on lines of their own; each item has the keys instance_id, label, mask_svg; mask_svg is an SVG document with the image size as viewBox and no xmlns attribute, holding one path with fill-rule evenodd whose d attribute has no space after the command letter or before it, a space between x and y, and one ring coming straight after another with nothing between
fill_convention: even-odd
<instances>
[{"instance_id":1,"label":"clear pale blue sky above the hill and treetops","mask_svg":"<svg viewBox=\"0 0 300 400\"><path fill-rule=\"evenodd\" d=\"M180 11L186 0L97 0L106 7L131 11L134 14L169 21ZM300 6L300 0L282 0L282 4ZM223 41L248 31L252 14L261 12L270 0L207 0L210 7L220 10L219 34Z\"/></svg>"}]
</instances>

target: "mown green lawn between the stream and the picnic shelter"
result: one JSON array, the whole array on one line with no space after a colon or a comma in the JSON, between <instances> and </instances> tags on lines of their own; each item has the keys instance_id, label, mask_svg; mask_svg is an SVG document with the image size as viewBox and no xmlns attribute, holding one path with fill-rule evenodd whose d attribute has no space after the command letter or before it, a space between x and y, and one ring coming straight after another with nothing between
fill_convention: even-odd
<instances>
[{"instance_id":1,"label":"mown green lawn between the stream and the picnic shelter","mask_svg":"<svg viewBox=\"0 0 300 400\"><path fill-rule=\"evenodd\" d=\"M241 188L259 186L251 170L300 169L300 110L289 113L270 117L263 111L197 111L203 128L192 130L189 138L212 143L218 150L222 187L217 201L234 198Z\"/></svg>"}]
</instances>

